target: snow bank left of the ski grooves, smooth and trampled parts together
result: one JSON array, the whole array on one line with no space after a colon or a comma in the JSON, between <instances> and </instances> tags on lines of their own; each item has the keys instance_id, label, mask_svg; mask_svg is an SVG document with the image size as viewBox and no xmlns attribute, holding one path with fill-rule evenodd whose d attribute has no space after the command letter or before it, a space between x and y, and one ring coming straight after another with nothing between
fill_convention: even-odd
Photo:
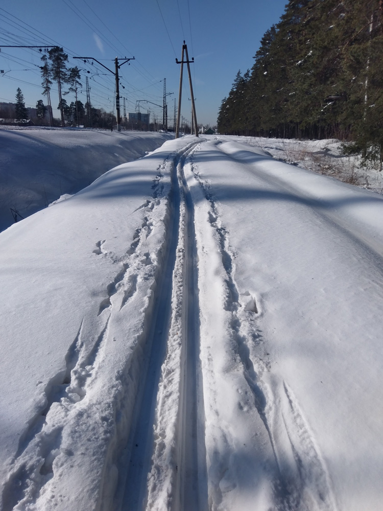
<instances>
[{"instance_id":1,"label":"snow bank left of the ski grooves, smooth and trampled parts together","mask_svg":"<svg viewBox=\"0 0 383 511\"><path fill-rule=\"evenodd\" d=\"M4 511L94 509L114 494L166 254L169 153L1 234Z\"/></svg>"}]
</instances>

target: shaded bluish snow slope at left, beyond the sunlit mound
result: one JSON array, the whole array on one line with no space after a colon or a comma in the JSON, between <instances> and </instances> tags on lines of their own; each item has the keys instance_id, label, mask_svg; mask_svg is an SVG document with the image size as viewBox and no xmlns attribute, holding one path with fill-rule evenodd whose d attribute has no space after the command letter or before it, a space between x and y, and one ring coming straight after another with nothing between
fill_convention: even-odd
<instances>
[{"instance_id":1,"label":"shaded bluish snow slope at left, beyond the sunlit mound","mask_svg":"<svg viewBox=\"0 0 383 511\"><path fill-rule=\"evenodd\" d=\"M0 126L0 231L171 137L141 131Z\"/></svg>"}]
</instances>

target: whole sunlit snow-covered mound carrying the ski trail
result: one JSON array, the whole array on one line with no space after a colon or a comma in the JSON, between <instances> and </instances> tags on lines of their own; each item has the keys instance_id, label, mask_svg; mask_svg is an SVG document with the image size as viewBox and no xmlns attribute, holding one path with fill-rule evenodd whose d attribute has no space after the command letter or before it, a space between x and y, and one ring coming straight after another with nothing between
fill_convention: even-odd
<instances>
[{"instance_id":1,"label":"whole sunlit snow-covered mound carrying the ski trail","mask_svg":"<svg viewBox=\"0 0 383 511\"><path fill-rule=\"evenodd\" d=\"M378 511L383 197L186 136L0 234L2 511Z\"/></svg>"}]
</instances>

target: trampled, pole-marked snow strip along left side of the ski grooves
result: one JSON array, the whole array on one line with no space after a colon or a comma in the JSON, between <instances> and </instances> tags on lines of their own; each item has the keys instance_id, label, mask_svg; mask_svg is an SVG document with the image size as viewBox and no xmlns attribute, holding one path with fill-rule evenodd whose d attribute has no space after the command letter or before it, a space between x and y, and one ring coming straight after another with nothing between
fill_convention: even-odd
<instances>
[{"instance_id":1,"label":"trampled, pole-marked snow strip along left side of the ski grooves","mask_svg":"<svg viewBox=\"0 0 383 511\"><path fill-rule=\"evenodd\" d=\"M87 456L94 456L94 451L89 453L81 451L78 453L80 458L77 459L74 452L66 447L65 439L68 439L68 443L73 443L70 438L77 436L81 439L81 435L83 438L86 437L89 432L81 430L87 428L85 420L87 416L89 421L94 423L91 417L95 410L100 416L101 427L97 428L94 425L93 435L100 437L97 444L100 454L103 454L105 458L105 464L103 463L104 467L100 464L93 478L96 481L94 484L98 484L97 481L100 479L105 480L105 484L99 497L99 492L95 492L93 496L89 494L83 496L83 509L109 508L110 494L114 492L116 484L113 477L114 458L119 455L120 444L129 431L134 404L134 391L131 387L137 386L138 383L142 353L147 338L146 325L151 323L153 289L156 274L161 267L161 252L164 249L157 241L158 239L166 240L163 236L164 224L157 220L159 232L156 233L156 243L154 247L147 243L153 229L153 223L150 220L153 210L161 208L162 218L166 220L168 207L166 195L169 193L169 185L164 187L164 183L161 182L163 177L161 169L165 168L166 172L170 173L169 165L172 165L172 161L165 160L158 169L153 182L153 199L142 205L145 216L142 224L135 231L124 260L114 261L121 266L121 269L113 281L107 285L106 297L100 303L98 317L93 318L86 325L84 320L82 321L79 333L65 357L67 366L65 374L57 375L46 387L47 404L41 415L33 420L29 430L20 439L20 447L14 461L15 467L3 492L4 511L49 509L50 498L54 498L60 478L70 479L71 477L70 471L67 472L68 457L74 456L70 460L70 466L74 463L81 466L86 464ZM156 216L158 218L158 212ZM96 248L93 250L94 257L113 257L103 248L104 243L105 241L96 243ZM127 354L126 361L122 360L120 367L116 367L116 373L111 378L112 375L103 374L102 367L103 359L113 355L110 353L110 342L117 340L113 336L111 322L121 321L116 316L124 313L124 308L128 309L129 300L134 299L141 301L142 311L145 314L136 320L138 335L135 334L135 342L131 347L129 346L131 353ZM126 313L129 314L128 311ZM82 341L84 338L93 339L92 343L88 343L87 349ZM101 395L100 387L103 388ZM129 399L126 399L125 393L128 388ZM105 392L109 394L107 401L103 399ZM36 451L40 453L39 456L36 456ZM53 461L56 458L54 470ZM90 461L88 463L91 464ZM76 481L71 482L74 486L78 484ZM102 507L100 507L101 503ZM67 509L68 504L64 499L59 499L59 503L56 503L56 506L58 505L61 505L62 509Z\"/></svg>"}]
</instances>

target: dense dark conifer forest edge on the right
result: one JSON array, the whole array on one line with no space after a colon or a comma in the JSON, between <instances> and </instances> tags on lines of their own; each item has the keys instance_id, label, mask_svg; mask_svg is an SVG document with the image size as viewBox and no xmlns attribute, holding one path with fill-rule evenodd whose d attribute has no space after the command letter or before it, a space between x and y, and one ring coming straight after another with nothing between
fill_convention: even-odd
<instances>
[{"instance_id":1,"label":"dense dark conifer forest edge on the right","mask_svg":"<svg viewBox=\"0 0 383 511\"><path fill-rule=\"evenodd\" d=\"M382 0L289 0L223 99L219 132L338 138L381 161L382 18Z\"/></svg>"}]
</instances>

